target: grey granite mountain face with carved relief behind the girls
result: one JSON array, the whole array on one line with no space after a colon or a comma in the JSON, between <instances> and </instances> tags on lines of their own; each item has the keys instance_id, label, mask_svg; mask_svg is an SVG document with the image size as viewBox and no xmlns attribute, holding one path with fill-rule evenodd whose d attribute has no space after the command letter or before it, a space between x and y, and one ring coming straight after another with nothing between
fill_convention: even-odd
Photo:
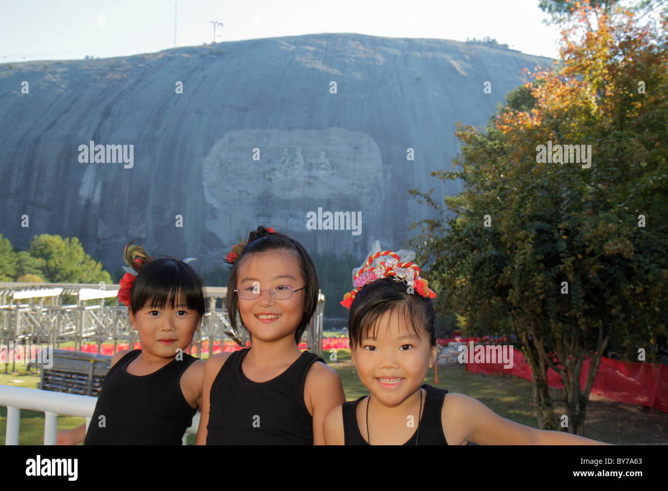
<instances>
[{"instance_id":1,"label":"grey granite mountain face with carved relief behind the girls","mask_svg":"<svg viewBox=\"0 0 668 491\"><path fill-rule=\"evenodd\" d=\"M259 224L361 261L373 240L399 249L428 216L407 190L461 190L430 176L452 168L455 123L486 124L522 68L550 63L357 34L6 63L0 232L20 249L77 236L110 271L129 240L202 271Z\"/></svg>"}]
</instances>

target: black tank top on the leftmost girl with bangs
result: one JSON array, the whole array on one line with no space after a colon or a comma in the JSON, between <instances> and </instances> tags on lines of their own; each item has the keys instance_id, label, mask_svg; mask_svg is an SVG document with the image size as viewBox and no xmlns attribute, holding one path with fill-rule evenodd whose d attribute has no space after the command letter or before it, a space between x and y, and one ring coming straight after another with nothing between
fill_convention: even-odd
<instances>
[{"instance_id":1,"label":"black tank top on the leftmost girl with bangs","mask_svg":"<svg viewBox=\"0 0 668 491\"><path fill-rule=\"evenodd\" d=\"M84 445L182 444L197 409L183 396L180 379L197 358L183 353L154 373L132 375L126 367L140 353L133 349L108 371Z\"/></svg>"}]
</instances>

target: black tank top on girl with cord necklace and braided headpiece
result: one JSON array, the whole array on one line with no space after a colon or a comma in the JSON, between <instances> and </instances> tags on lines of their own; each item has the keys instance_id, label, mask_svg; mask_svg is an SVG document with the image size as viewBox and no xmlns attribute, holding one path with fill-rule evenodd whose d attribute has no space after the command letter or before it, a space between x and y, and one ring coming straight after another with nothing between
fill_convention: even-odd
<instances>
[{"instance_id":1,"label":"black tank top on girl with cord necklace and braided headpiece","mask_svg":"<svg viewBox=\"0 0 668 491\"><path fill-rule=\"evenodd\" d=\"M415 433L413 433L413 436L404 445L415 445L416 438L418 445L448 445L446 437L443 434L441 420L443 401L446 399L448 389L438 389L427 384L422 385L422 388L427 390L427 397L419 424L420 436L418 436L418 428L415 428ZM363 395L356 401L343 403L343 434L345 445L368 445L366 440L362 438L359 426L357 425L357 404L364 397L367 396Z\"/></svg>"}]
</instances>

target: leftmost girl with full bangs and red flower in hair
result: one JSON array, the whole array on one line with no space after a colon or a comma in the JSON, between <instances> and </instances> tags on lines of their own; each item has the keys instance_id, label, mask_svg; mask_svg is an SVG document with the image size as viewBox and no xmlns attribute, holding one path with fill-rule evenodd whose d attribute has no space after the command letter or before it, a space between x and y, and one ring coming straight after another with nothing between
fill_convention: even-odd
<instances>
[{"instance_id":1,"label":"leftmost girl with full bangs and red flower in hair","mask_svg":"<svg viewBox=\"0 0 668 491\"><path fill-rule=\"evenodd\" d=\"M138 274L126 273L118 298L142 349L114 355L88 433L86 425L58 432L58 444L180 445L200 406L204 362L184 350L205 313L202 279L183 261L154 261L130 244L124 259Z\"/></svg>"}]
</instances>

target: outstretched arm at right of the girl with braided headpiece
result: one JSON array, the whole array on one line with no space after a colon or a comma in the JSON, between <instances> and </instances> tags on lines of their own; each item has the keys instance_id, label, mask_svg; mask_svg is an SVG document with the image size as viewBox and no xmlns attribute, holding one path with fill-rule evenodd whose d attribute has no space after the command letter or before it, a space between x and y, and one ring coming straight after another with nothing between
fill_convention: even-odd
<instances>
[{"instance_id":1,"label":"outstretched arm at right of the girl with braided headpiece","mask_svg":"<svg viewBox=\"0 0 668 491\"><path fill-rule=\"evenodd\" d=\"M459 435L454 438L459 440L456 443L468 440L480 445L607 445L582 436L536 430L506 420L482 402L464 394L446 394L441 416L443 427L448 424L452 429L449 431L451 436Z\"/></svg>"}]
</instances>

